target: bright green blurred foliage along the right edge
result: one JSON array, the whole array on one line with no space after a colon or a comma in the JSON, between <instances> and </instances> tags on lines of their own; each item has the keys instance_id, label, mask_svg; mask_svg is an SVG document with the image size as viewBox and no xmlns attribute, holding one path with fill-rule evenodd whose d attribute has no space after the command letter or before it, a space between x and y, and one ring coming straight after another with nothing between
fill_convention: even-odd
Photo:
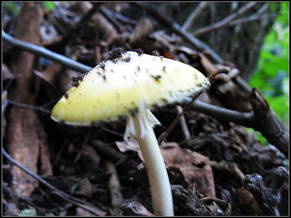
<instances>
[{"instance_id":1,"label":"bright green blurred foliage along the right edge","mask_svg":"<svg viewBox=\"0 0 291 218\"><path fill-rule=\"evenodd\" d=\"M271 11L273 6L270 3ZM281 2L280 15L265 37L250 86L258 87L270 107L289 125L289 2Z\"/></svg>"}]
</instances>

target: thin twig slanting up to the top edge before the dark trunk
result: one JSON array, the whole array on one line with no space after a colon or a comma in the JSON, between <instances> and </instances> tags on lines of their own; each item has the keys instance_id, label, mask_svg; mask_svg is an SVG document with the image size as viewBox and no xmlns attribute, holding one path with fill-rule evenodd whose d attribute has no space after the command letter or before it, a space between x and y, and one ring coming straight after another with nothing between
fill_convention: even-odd
<instances>
[{"instance_id":1,"label":"thin twig slanting up to the top edge before the dark trunk","mask_svg":"<svg viewBox=\"0 0 291 218\"><path fill-rule=\"evenodd\" d=\"M249 9L254 7L256 4L257 4L257 2L249 2L246 5L244 5L241 9L239 9L237 12L232 13L231 15L227 16L223 20L221 20L217 23L211 24L209 26L206 26L206 27L201 27L201 28L193 31L192 34L194 36L198 36L198 35L204 34L205 32L208 32L211 30L217 30L217 29L223 28L227 24L229 24L232 20L234 20L236 17L241 16L243 13L245 13L246 11L248 11Z\"/></svg>"}]
</instances>

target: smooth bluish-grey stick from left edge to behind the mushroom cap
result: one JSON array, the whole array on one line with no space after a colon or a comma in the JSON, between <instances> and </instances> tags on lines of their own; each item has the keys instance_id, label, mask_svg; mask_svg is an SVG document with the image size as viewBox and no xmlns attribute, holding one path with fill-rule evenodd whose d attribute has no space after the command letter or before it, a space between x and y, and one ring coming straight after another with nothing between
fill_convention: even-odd
<instances>
[{"instance_id":1,"label":"smooth bluish-grey stick from left edge to behind the mushroom cap","mask_svg":"<svg viewBox=\"0 0 291 218\"><path fill-rule=\"evenodd\" d=\"M50 51L47 48L36 46L32 43L24 42L22 40L16 39L12 37L11 35L7 34L2 30L2 39L3 41L15 46L19 47L23 50L29 51L33 54L43 56L45 58L48 58L52 61L58 62L63 64L65 67L68 67L70 69L80 71L81 73L86 73L90 71L93 67L87 66L85 64L82 64L80 62L76 62L72 59L69 59L65 57L64 55L60 55L58 53L55 53L53 51Z\"/></svg>"}]
</instances>

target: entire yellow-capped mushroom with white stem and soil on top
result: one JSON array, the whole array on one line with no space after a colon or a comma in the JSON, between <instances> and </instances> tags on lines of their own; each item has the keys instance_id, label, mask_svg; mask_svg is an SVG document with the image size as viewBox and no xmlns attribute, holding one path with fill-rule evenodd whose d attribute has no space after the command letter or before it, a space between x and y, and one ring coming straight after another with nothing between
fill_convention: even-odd
<instances>
[{"instance_id":1,"label":"entire yellow-capped mushroom with white stem and soil on top","mask_svg":"<svg viewBox=\"0 0 291 218\"><path fill-rule=\"evenodd\" d=\"M160 122L151 109L201 93L210 86L209 80L185 63L115 48L107 60L73 81L52 109L51 119L86 126L127 117L124 140L132 137L139 142L154 214L174 216L171 186L153 131Z\"/></svg>"}]
</instances>

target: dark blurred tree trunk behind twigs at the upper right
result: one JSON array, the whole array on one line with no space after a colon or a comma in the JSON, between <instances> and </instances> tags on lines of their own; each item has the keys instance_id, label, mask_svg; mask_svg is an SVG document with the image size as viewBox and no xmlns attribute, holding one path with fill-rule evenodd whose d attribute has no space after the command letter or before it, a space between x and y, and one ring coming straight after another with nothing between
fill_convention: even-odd
<instances>
[{"instance_id":1,"label":"dark blurred tree trunk behind twigs at the upper right","mask_svg":"<svg viewBox=\"0 0 291 218\"><path fill-rule=\"evenodd\" d=\"M242 14L237 15L248 3L253 3L253 5L250 5L251 7ZM180 26L183 26L199 2L154 4L161 14L171 17ZM269 2L209 2L187 31L208 44L224 60L233 62L241 70L240 76L248 81L257 67L264 38L274 23L275 16L270 15L274 15L280 9L280 3L274 3L274 5L276 11L272 14ZM227 17L231 18L230 16L235 17L231 21L239 21L240 18L244 18L244 20L250 18L250 21L236 24L234 22L221 22L226 21ZM241 21L243 20L241 19ZM219 22L220 24L224 23L224 25L214 25L219 24ZM200 28L211 25L210 31L197 34Z\"/></svg>"}]
</instances>

